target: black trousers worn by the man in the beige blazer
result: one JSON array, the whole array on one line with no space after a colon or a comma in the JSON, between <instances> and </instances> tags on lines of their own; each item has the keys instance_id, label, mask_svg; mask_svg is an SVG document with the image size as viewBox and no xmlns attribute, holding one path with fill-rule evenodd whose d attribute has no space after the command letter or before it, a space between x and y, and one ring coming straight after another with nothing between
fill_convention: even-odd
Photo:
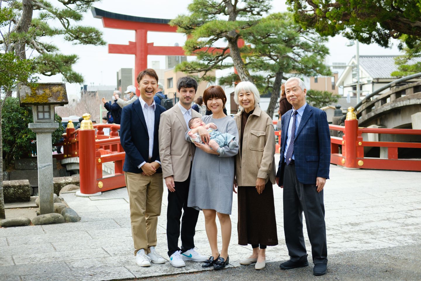
<instances>
[{"instance_id":1,"label":"black trousers worn by the man in the beige blazer","mask_svg":"<svg viewBox=\"0 0 421 281\"><path fill-rule=\"evenodd\" d=\"M190 171L191 174L191 171ZM174 192L168 191L167 207L167 241L168 257L176 252L182 253L195 247L193 238L195 237L197 217L199 211L192 207L187 207L187 197L189 196L190 174L184 182L174 182ZM181 219L181 249L179 248L180 218Z\"/></svg>"}]
</instances>

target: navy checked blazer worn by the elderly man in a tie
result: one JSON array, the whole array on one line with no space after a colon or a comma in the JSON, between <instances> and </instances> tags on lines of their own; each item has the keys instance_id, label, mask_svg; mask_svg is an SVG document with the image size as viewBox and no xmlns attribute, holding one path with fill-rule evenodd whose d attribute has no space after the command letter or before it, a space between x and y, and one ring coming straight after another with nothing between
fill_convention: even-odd
<instances>
[{"instance_id":1,"label":"navy checked blazer worn by the elderly man in a tie","mask_svg":"<svg viewBox=\"0 0 421 281\"><path fill-rule=\"evenodd\" d=\"M283 185L285 147L292 109L281 117L281 155L276 177ZM317 177L329 178L330 132L326 112L306 105L294 140L294 160L298 181L315 185Z\"/></svg>"}]
</instances>

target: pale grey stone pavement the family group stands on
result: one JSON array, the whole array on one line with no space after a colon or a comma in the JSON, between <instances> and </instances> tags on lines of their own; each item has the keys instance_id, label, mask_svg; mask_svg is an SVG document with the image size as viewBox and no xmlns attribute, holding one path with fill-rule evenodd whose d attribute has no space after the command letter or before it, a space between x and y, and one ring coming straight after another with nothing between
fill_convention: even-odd
<instances>
[{"instance_id":1,"label":"pale grey stone pavement the family group stands on","mask_svg":"<svg viewBox=\"0 0 421 281\"><path fill-rule=\"evenodd\" d=\"M275 158L278 160L279 156ZM346 170L331 165L330 177L324 194L329 255L421 243L421 173ZM157 251L168 258L165 234L168 193L164 190ZM96 281L203 270L196 262L187 262L184 268L174 268L168 262L149 268L136 265L125 188L91 198L76 197L74 193L62 196L80 214L80 222L0 228L0 280ZM268 247L267 262L288 259L282 190L277 186L274 198L279 245ZM251 253L251 247L237 245L235 195L232 206L230 266L238 267L238 262ZM199 252L209 255L202 213L196 230ZM304 237L310 255L306 233Z\"/></svg>"}]
</instances>

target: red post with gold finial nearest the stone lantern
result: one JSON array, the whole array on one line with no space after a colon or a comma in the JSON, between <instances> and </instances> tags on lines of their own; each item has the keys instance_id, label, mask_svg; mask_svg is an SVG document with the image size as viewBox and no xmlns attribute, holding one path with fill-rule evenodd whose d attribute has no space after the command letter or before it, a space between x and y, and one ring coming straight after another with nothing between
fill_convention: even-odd
<instances>
[{"instance_id":1,"label":"red post with gold finial nearest the stone lantern","mask_svg":"<svg viewBox=\"0 0 421 281\"><path fill-rule=\"evenodd\" d=\"M82 124L79 129L79 170L80 170L80 191L77 196L88 197L101 195L96 187L96 165L95 165L95 129L90 114L82 115Z\"/></svg>"}]
</instances>

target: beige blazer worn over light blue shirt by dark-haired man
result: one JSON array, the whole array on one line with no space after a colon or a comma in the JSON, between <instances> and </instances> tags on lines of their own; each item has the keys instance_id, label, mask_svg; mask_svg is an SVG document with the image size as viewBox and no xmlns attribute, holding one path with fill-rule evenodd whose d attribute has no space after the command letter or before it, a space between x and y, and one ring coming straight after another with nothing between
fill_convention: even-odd
<instances>
[{"instance_id":1,"label":"beige blazer worn over light blue shirt by dark-haired man","mask_svg":"<svg viewBox=\"0 0 421 281\"><path fill-rule=\"evenodd\" d=\"M192 110L192 118L200 117ZM163 177L173 176L174 181L184 182L189 177L195 145L186 141L187 125L178 104L163 112L159 123L159 156Z\"/></svg>"}]
</instances>

